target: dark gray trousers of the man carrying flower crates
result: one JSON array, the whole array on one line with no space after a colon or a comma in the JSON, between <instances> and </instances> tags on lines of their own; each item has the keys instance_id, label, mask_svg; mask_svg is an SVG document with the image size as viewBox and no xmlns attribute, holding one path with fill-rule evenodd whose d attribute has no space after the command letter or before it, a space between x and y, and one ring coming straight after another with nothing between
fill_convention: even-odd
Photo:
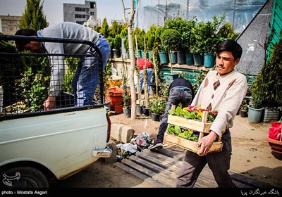
<instances>
[{"instance_id":1,"label":"dark gray trousers of the man carrying flower crates","mask_svg":"<svg viewBox=\"0 0 282 197\"><path fill-rule=\"evenodd\" d=\"M199 156L192 151L185 152L183 165L176 178L176 187L192 188L206 164L212 170L214 179L219 187L235 187L228 173L232 152L229 129L226 129L221 141L223 142L223 148L219 153L208 153L205 156Z\"/></svg>"}]
</instances>

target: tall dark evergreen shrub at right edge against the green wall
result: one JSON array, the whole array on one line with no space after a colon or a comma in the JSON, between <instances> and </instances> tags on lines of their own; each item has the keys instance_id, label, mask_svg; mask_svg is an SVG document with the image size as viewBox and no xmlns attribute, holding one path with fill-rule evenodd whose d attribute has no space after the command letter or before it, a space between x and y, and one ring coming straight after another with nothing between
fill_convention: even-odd
<instances>
[{"instance_id":1,"label":"tall dark evergreen shrub at right edge against the green wall","mask_svg":"<svg viewBox=\"0 0 282 197\"><path fill-rule=\"evenodd\" d=\"M278 120L278 115L282 107L282 31L280 32L280 39L274 44L271 51L269 51L270 37L266 37L264 44L265 58L262 69L258 72L255 81L252 83L252 106L253 108L261 108L272 110L276 115L271 115L269 119L264 122L271 122ZM270 52L269 59L268 52ZM250 109L250 108L249 108ZM265 113L264 113L265 114ZM250 113L249 113L250 116ZM262 118L261 118L262 119Z\"/></svg>"}]
</instances>

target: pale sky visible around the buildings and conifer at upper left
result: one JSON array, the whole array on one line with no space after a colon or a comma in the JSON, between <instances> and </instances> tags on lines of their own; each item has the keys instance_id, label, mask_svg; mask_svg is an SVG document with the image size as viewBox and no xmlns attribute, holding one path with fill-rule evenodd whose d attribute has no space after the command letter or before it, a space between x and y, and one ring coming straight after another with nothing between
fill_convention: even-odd
<instances>
[{"instance_id":1,"label":"pale sky visible around the buildings and conifer at upper left","mask_svg":"<svg viewBox=\"0 0 282 197\"><path fill-rule=\"evenodd\" d=\"M125 8L130 6L130 0L124 0ZM26 0L0 0L0 15L23 15ZM43 11L51 24L63 22L63 3L84 4L84 0L44 0ZM96 0L98 18L106 18L108 22L123 19L121 0Z\"/></svg>"}]
</instances>

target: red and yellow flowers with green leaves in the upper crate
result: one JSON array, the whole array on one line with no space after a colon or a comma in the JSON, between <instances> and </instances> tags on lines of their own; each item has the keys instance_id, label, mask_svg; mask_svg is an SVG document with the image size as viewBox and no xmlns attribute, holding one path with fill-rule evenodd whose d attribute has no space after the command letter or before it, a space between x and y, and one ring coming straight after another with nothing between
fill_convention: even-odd
<instances>
[{"instance_id":1,"label":"red and yellow flowers with green leaves in the upper crate","mask_svg":"<svg viewBox=\"0 0 282 197\"><path fill-rule=\"evenodd\" d=\"M203 112L207 111L207 122L213 122L218 114L217 110L206 110L201 107L188 106L187 108L180 108L179 106L175 110L169 110L170 115L176 115L180 117L185 117L191 120L202 120Z\"/></svg>"}]
</instances>

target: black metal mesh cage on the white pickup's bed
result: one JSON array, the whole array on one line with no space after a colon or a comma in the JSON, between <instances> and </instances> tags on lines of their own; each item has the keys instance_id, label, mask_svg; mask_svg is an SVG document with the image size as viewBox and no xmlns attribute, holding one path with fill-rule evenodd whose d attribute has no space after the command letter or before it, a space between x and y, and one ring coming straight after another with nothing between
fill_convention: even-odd
<instances>
[{"instance_id":1,"label":"black metal mesh cage on the white pickup's bed","mask_svg":"<svg viewBox=\"0 0 282 197\"><path fill-rule=\"evenodd\" d=\"M18 53L16 47L8 41L25 39L30 42L58 42L87 44L96 53L84 55ZM0 35L0 120L43 115L71 110L84 110L104 105L104 81L102 53L93 42L82 39L58 39L47 37L25 37ZM89 56L99 58L99 82L93 96L92 104L75 106L73 93L73 75L78 61ZM56 106L52 110L44 110L42 104L48 97L51 77L50 59L63 58L63 84L59 96L56 96ZM90 64L90 61L85 61ZM99 90L98 90L99 89ZM98 91L97 91L98 90Z\"/></svg>"}]
</instances>

